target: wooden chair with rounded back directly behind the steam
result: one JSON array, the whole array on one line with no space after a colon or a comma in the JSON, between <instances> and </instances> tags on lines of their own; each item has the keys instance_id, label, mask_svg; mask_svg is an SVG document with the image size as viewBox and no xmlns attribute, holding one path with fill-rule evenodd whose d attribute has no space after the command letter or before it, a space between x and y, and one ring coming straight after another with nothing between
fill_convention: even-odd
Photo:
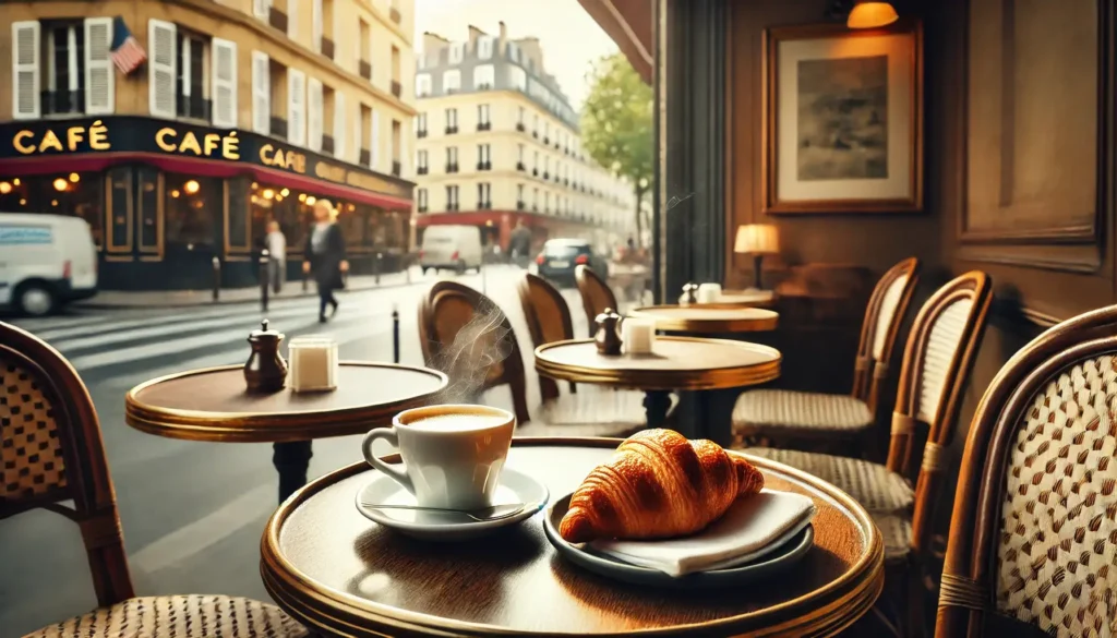
<instances>
[{"instance_id":1,"label":"wooden chair with rounded back directly behind the steam","mask_svg":"<svg viewBox=\"0 0 1117 638\"><path fill-rule=\"evenodd\" d=\"M508 385L518 436L628 436L646 422L642 413L633 418L640 403L633 406L627 393L544 396L528 411L524 359L512 323L468 286L439 282L431 287L419 304L419 340L427 365L450 378L447 402L476 401L487 390Z\"/></svg>"}]
</instances>

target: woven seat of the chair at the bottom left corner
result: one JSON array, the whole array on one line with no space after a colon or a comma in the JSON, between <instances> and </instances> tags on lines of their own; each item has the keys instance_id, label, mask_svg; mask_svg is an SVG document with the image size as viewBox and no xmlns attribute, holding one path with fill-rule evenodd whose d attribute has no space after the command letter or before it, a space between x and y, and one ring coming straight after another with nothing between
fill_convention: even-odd
<instances>
[{"instance_id":1,"label":"woven seat of the chair at the bottom left corner","mask_svg":"<svg viewBox=\"0 0 1117 638\"><path fill-rule=\"evenodd\" d=\"M279 608L227 596L132 598L23 638L303 638Z\"/></svg>"}]
</instances>

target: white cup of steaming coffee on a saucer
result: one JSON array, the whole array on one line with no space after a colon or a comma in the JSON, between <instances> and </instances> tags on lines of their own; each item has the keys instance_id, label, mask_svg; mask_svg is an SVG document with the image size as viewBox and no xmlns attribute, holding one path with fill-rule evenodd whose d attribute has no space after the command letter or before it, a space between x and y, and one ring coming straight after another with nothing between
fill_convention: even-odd
<instances>
[{"instance_id":1,"label":"white cup of steaming coffee on a saucer","mask_svg":"<svg viewBox=\"0 0 1117 638\"><path fill-rule=\"evenodd\" d=\"M364 437L369 465L403 486L422 507L479 510L493 504L512 446L516 417L487 406L429 406L404 410L392 427ZM398 447L403 467L376 457L376 439Z\"/></svg>"}]
</instances>

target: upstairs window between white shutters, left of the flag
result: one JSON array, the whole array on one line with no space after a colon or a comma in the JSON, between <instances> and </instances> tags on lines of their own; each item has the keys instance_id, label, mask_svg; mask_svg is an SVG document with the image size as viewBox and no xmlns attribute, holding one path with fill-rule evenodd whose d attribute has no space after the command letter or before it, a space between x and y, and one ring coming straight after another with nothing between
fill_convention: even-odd
<instances>
[{"instance_id":1,"label":"upstairs window between white shutters, left of the flag","mask_svg":"<svg viewBox=\"0 0 1117 638\"><path fill-rule=\"evenodd\" d=\"M80 20L42 22L46 92L42 114L85 112L85 27Z\"/></svg>"}]
</instances>

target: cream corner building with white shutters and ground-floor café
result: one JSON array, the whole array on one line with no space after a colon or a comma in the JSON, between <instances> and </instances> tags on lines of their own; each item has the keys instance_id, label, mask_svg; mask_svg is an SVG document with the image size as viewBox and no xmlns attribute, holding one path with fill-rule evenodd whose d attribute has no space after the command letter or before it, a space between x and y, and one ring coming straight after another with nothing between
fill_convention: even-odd
<instances>
[{"instance_id":1,"label":"cream corner building with white shutters and ground-floor caf\u00e9","mask_svg":"<svg viewBox=\"0 0 1117 638\"><path fill-rule=\"evenodd\" d=\"M4 2L0 211L85 218L105 288L255 283L270 220L297 277L323 198L354 270L390 268L413 208L412 6Z\"/></svg>"}]
</instances>

